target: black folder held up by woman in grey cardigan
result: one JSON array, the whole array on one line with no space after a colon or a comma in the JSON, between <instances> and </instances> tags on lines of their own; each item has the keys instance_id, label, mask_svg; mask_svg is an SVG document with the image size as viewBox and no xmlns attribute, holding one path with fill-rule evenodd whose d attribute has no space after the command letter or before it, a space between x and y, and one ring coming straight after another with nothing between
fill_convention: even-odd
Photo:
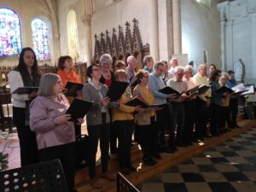
<instances>
[{"instance_id":1,"label":"black folder held up by woman in grey cardigan","mask_svg":"<svg viewBox=\"0 0 256 192\"><path fill-rule=\"evenodd\" d=\"M108 88L107 96L111 102L118 101L119 98L124 94L129 83L114 81L113 84Z\"/></svg>"}]
</instances>

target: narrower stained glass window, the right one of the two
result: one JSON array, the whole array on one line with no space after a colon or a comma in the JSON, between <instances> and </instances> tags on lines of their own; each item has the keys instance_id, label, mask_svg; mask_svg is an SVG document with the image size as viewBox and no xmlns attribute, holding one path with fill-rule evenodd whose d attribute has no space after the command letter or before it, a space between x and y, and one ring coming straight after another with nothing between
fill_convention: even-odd
<instances>
[{"instance_id":1,"label":"narrower stained glass window, the right one of the two","mask_svg":"<svg viewBox=\"0 0 256 192\"><path fill-rule=\"evenodd\" d=\"M49 60L49 32L44 20L32 20L33 48L38 60Z\"/></svg>"}]
</instances>

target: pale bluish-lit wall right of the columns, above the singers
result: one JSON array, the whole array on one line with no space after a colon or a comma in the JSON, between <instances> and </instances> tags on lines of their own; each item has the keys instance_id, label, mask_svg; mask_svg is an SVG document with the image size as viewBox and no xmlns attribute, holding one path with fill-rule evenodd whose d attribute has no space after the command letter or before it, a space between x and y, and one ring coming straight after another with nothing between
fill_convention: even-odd
<instances>
[{"instance_id":1,"label":"pale bluish-lit wall right of the columns, above the singers","mask_svg":"<svg viewBox=\"0 0 256 192\"><path fill-rule=\"evenodd\" d=\"M211 8L206 8L195 0L181 0L183 54L189 54L195 66L204 62L205 50L207 64L221 67L218 1L211 2Z\"/></svg>"}]
</instances>

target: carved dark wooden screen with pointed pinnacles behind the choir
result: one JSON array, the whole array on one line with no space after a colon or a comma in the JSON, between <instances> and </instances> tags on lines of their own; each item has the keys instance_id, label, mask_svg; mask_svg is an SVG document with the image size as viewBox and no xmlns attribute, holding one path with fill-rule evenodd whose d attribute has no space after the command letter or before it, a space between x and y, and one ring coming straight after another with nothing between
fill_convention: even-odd
<instances>
[{"instance_id":1,"label":"carved dark wooden screen with pointed pinnacles behind the choir","mask_svg":"<svg viewBox=\"0 0 256 192\"><path fill-rule=\"evenodd\" d=\"M106 30L100 34L100 39L95 35L94 60L99 62L100 57L104 53L108 53L113 58L114 63L118 60L125 61L129 55L135 55L137 58L137 68L143 67L143 57L149 55L149 45L143 45L141 34L138 27L138 20L133 19L133 29L131 32L131 24L125 23L125 33L122 26L117 30L113 28L112 36ZM114 68L114 67L113 67Z\"/></svg>"}]
</instances>

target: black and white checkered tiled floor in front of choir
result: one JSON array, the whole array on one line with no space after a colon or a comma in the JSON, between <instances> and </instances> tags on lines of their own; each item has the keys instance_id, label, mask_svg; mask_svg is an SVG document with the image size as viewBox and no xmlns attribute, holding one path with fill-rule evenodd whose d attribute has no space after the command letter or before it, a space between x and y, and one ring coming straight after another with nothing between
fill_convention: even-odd
<instances>
[{"instance_id":1,"label":"black and white checkered tiled floor in front of choir","mask_svg":"<svg viewBox=\"0 0 256 192\"><path fill-rule=\"evenodd\" d=\"M256 128L137 186L142 192L255 192Z\"/></svg>"}]
</instances>

